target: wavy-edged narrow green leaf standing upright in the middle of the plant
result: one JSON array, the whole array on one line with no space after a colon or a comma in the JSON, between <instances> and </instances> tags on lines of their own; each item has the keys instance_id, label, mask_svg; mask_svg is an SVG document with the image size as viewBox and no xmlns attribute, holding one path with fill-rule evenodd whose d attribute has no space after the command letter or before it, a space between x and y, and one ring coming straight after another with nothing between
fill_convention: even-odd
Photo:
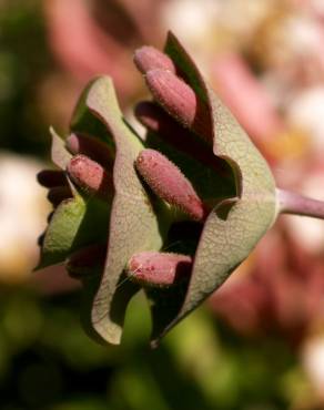
<instances>
[{"instance_id":1,"label":"wavy-edged narrow green leaf standing upright in the middle of the plant","mask_svg":"<svg viewBox=\"0 0 324 410\"><path fill-rule=\"evenodd\" d=\"M128 301L138 290L130 283L122 283L123 269L134 253L160 249L162 238L158 218L133 165L143 150L143 143L124 121L111 79L99 78L88 86L75 110L72 127L79 124L82 132L82 115L87 115L83 124L89 124L89 111L105 124L105 137L112 136L114 141L115 195L104 273L98 289L93 291L93 307L88 324L92 334L110 344L119 344Z\"/></svg>"}]
</instances>

